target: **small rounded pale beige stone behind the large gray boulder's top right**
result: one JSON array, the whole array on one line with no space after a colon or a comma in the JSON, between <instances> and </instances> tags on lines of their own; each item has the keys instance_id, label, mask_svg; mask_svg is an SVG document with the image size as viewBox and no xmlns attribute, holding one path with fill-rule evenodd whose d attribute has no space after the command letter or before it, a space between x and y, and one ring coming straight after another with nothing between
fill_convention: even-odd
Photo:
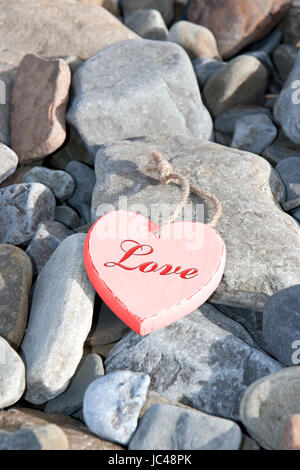
<instances>
[{"instance_id":1,"label":"small rounded pale beige stone behind the large gray boulder's top right","mask_svg":"<svg viewBox=\"0 0 300 470\"><path fill-rule=\"evenodd\" d=\"M192 60L201 57L221 58L213 33L204 26L189 21L175 23L169 30L168 41L182 46Z\"/></svg>"}]
</instances>

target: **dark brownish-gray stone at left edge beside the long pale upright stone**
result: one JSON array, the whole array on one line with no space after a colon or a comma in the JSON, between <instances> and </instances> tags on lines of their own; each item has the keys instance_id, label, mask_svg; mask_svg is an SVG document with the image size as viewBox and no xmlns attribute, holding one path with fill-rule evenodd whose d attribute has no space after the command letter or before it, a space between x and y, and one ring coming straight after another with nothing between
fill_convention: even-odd
<instances>
[{"instance_id":1,"label":"dark brownish-gray stone at left edge beside the long pale upright stone","mask_svg":"<svg viewBox=\"0 0 300 470\"><path fill-rule=\"evenodd\" d=\"M30 259L20 248L1 244L0 273L0 335L17 349L27 324Z\"/></svg>"}]
</instances>

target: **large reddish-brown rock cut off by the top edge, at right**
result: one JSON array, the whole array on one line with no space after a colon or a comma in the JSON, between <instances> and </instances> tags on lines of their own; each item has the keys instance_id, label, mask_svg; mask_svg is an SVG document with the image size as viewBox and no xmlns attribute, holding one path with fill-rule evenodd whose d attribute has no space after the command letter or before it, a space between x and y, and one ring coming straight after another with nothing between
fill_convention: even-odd
<instances>
[{"instance_id":1,"label":"large reddish-brown rock cut off by the top edge, at right","mask_svg":"<svg viewBox=\"0 0 300 470\"><path fill-rule=\"evenodd\" d=\"M224 59L268 34L284 18L290 0L191 0L188 21L210 29Z\"/></svg>"}]
</instances>

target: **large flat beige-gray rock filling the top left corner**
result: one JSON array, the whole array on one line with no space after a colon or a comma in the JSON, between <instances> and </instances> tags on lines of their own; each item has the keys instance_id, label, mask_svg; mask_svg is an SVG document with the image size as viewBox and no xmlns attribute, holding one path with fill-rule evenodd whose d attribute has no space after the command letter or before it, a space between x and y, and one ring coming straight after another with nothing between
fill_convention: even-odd
<instances>
[{"instance_id":1,"label":"large flat beige-gray rock filling the top left corner","mask_svg":"<svg viewBox=\"0 0 300 470\"><path fill-rule=\"evenodd\" d=\"M68 0L1 0L0 6L0 62L11 66L19 65L29 53L87 59L110 44L137 37L97 5Z\"/></svg>"}]
</instances>

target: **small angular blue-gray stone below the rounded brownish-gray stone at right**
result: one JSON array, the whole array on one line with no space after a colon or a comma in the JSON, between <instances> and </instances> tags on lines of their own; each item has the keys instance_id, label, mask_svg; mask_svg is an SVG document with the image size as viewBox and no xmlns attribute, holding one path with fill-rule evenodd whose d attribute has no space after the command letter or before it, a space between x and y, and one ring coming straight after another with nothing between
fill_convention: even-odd
<instances>
[{"instance_id":1,"label":"small angular blue-gray stone below the rounded brownish-gray stone at right","mask_svg":"<svg viewBox=\"0 0 300 470\"><path fill-rule=\"evenodd\" d=\"M244 116L235 123L231 147L261 154L277 136L277 128L265 114Z\"/></svg>"}]
</instances>

